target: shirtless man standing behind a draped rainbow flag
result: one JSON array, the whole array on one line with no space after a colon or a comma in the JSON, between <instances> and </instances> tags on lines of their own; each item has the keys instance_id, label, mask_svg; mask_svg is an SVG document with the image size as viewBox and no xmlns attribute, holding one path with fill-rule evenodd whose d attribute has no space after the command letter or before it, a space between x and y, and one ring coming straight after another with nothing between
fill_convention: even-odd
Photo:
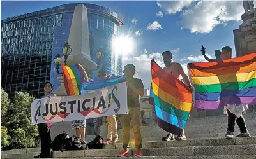
<instances>
[{"instance_id":1,"label":"shirtless man standing behind a draped rainbow flag","mask_svg":"<svg viewBox=\"0 0 256 159\"><path fill-rule=\"evenodd\" d=\"M188 88L192 89L192 86L190 85L190 80L188 79L188 76L184 73L183 67L181 64L173 62L172 60L172 53L170 51L165 51L162 53L163 55L163 62L165 63L165 67L163 70L165 70L167 73L171 74L175 78L179 79L179 76L181 75L183 77L184 82L188 86ZM184 129L182 133L175 137L176 140L186 140L186 136L184 134ZM162 141L170 141L174 140L174 135L169 133L166 137L162 137Z\"/></svg>"}]
</instances>

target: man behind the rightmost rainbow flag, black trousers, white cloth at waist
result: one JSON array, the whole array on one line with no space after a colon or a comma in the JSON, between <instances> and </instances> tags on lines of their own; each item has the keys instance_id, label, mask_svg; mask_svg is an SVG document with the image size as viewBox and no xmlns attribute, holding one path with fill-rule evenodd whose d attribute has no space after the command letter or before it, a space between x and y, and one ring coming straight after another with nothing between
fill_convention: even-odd
<instances>
[{"instance_id":1,"label":"man behind the rightmost rainbow flag, black trousers, white cloth at waist","mask_svg":"<svg viewBox=\"0 0 256 159\"><path fill-rule=\"evenodd\" d=\"M229 46L223 47L221 57L222 57L222 60L232 59L232 48L230 48ZM227 133L225 134L225 138L234 137L235 123L237 123L241 132L236 137L251 136L247 130L247 127L245 124L245 118L243 117L243 114L246 113L247 109L248 109L247 104L240 104L240 105L227 104L227 106L224 107L224 114L227 114L228 116L228 127L227 127Z\"/></svg>"}]
</instances>

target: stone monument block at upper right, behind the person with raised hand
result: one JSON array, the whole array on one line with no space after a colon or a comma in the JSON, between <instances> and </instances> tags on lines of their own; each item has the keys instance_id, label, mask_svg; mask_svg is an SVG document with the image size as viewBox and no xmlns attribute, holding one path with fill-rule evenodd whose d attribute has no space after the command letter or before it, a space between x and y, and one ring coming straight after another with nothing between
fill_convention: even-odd
<instances>
[{"instance_id":1,"label":"stone monument block at upper right, behind the person with raised hand","mask_svg":"<svg viewBox=\"0 0 256 159\"><path fill-rule=\"evenodd\" d=\"M243 23L233 31L236 56L256 52L256 10L242 15Z\"/></svg>"}]
</instances>

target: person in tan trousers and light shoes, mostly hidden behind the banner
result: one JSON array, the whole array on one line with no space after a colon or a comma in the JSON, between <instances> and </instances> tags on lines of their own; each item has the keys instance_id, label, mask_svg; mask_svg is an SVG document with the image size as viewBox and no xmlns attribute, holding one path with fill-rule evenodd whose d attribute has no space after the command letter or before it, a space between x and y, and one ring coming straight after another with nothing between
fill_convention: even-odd
<instances>
[{"instance_id":1,"label":"person in tan trousers and light shoes, mostly hidden behind the banner","mask_svg":"<svg viewBox=\"0 0 256 159\"><path fill-rule=\"evenodd\" d=\"M98 78L106 80L111 78L105 71L98 71ZM116 115L107 116L107 141L104 144L116 144L118 142Z\"/></svg>"}]
</instances>

